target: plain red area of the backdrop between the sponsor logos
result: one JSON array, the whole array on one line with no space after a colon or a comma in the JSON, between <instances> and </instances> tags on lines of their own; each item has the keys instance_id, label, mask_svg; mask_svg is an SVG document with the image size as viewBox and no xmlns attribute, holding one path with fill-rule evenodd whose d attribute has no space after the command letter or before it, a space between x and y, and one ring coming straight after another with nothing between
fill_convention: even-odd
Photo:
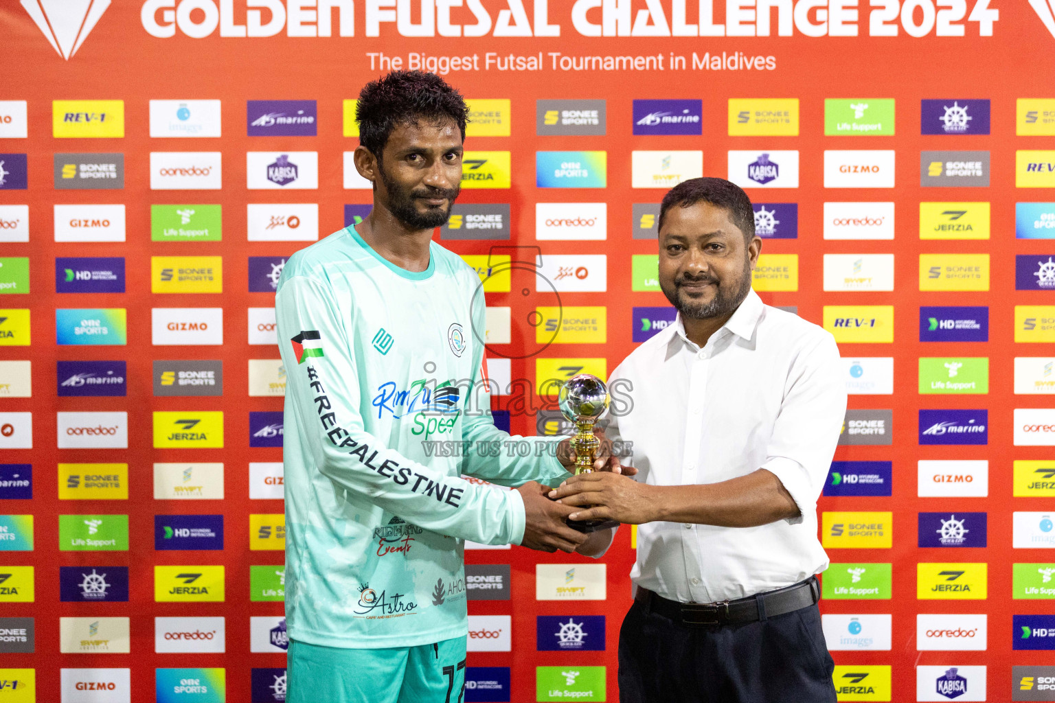
<instances>
[{"instance_id":1,"label":"plain red area of the backdrop between the sponsor logos","mask_svg":"<svg viewBox=\"0 0 1055 703\"><path fill-rule=\"evenodd\" d=\"M158 24L172 24L171 9L148 3ZM198 3L213 7L211 2ZM234 21L244 24L243 3L233 3ZM281 3L279 3L281 4ZM349 3L350 4L350 3ZM36 549L0 552L2 565L36 567L36 600L33 603L0 604L0 616L36 619L36 652L4 655L3 666L37 670L39 701L59 700L59 669L63 667L131 667L134 700L152 700L155 667L215 666L227 669L227 700L248 701L251 667L277 667L284 657L250 653L251 616L277 616L279 603L250 603L249 566L281 564L279 551L249 549L248 513L275 513L279 501L250 501L248 463L277 462L280 449L249 447L250 411L281 410L281 398L250 397L247 359L277 357L277 350L250 346L247 340L247 309L271 307L273 296L248 291L249 256L288 255L300 242L249 242L246 239L246 204L249 202L318 202L320 232L343 226L343 206L369 202L369 192L344 190L342 152L358 140L342 136L342 100L354 98L362 85L379 76L368 53L383 52L407 57L463 56L486 52L522 56L542 55L539 71L455 71L445 77L469 98L512 100L512 133L509 137L474 137L467 147L480 151L512 153L512 188L466 190L462 202L501 202L512 208L514 245L538 245L548 254L607 254L608 287L605 293L562 293L564 306L606 306L608 337L605 344L552 346L542 356L606 357L610 372L628 354L631 341L631 309L664 306L660 293L631 291L631 255L655 253L655 242L631 238L634 202L656 202L661 190L631 189L631 151L702 150L704 173L726 176L729 150L798 150L801 157L798 189L749 191L755 200L797 202L797 239L770 240L764 253L799 255L799 285L794 292L763 293L770 305L798 306L806 319L821 323L824 305L895 306L894 344L844 345L844 355L893 356L893 395L853 395L851 408L893 408L893 446L840 447L837 460L891 461L893 497L822 499L820 510L877 510L894 512L893 549L829 549L833 562L893 562L893 599L889 601L828 601L822 611L838 613L893 613L890 651L836 652L837 663L887 664L893 666L894 700L915 700L914 666L917 664L989 666L989 700L1008 700L1013 664L1050 662L1043 651L1012 651L1012 614L1050 611L1050 602L1012 601L1013 562L1050 561L1042 550L1012 550L1012 511L1043 510L1051 501L1012 497L1012 461L1041 460L1050 451L1037 447L1013 448L1012 409L1049 407L1048 396L1013 395L1013 357L1051 353L1050 345L1016 345L1013 337L1013 306L1044 305L1050 292L1015 290L1014 255L1047 253L1043 240L1016 240L1015 202L1052 199L1048 191L1015 188L1015 151L1052 149L1049 137L1017 137L1015 100L1048 97L1055 79L1050 56L1052 37L1025 3L994 3L1000 13L993 36L979 37L978 24L962 22L964 37L806 37L797 30L790 37L601 37L579 36L572 27L571 6L552 4L550 22L560 24L560 37L415 38L384 24L380 37L365 37L363 13L367 3L356 5L356 36L339 37L334 14L331 37L289 37L286 32L268 38L231 38L219 31L192 38L180 27L174 36L154 37L143 27L140 3L110 6L90 36L69 60L59 56L26 12L8 0L0 6L4 41L0 57L6 66L0 99L28 102L28 138L0 140L0 151L27 153L28 184L24 191L0 191L0 204L27 203L31 235L27 243L3 243L4 256L28 256L32 295L4 296L8 308L32 311L33 344L2 347L0 359L32 359L33 396L0 401L3 411L32 411L34 449L4 452L4 462L33 464L32 501L5 501L0 511L35 516ZM504 3L485 3L491 15ZM515 3L519 6L519 3ZM929 6L928 3L924 3ZM220 3L230 6L231 3ZM495 6L492 6L495 5ZM499 7L498 5L501 5ZM641 4L641 7L645 5ZM187 0L184 2L187 8ZM207 9L208 9L207 7ZM637 12L637 4L634 12ZM910 8L909 8L910 9ZM183 9L180 11L183 12ZM414 11L417 18L418 8ZM454 11L460 21L473 20L465 8ZM531 13L531 5L528 7ZM598 15L599 9L590 11ZM858 24L867 33L870 8L861 7ZM458 14L461 13L461 14ZM462 16L464 15L464 17ZM690 11L690 15L694 11ZM715 22L724 9L715 8ZM192 11L193 22L209 15ZM534 16L531 16L534 17ZM590 15L594 17L594 15ZM917 9L914 21L925 18ZM655 55L671 53L689 58L743 52L773 57L772 70L669 70L664 71L562 71L554 70L550 52L564 55ZM406 63L404 63L404 66ZM824 136L824 99L875 96L894 98L897 105L895 136ZM922 136L920 100L968 97L991 100L992 128L987 135ZM731 137L727 129L729 98L779 97L800 101L799 136ZM607 100L607 133L603 136L537 136L536 99L592 98ZM645 98L696 98L703 100L702 136L632 136L632 100ZM124 137L119 139L58 139L52 134L52 100L120 99L124 101ZM223 137L218 139L152 139L149 130L151 99L219 99L223 101ZM249 137L246 101L253 99L312 99L318 101L318 136ZM823 152L826 149L896 150L896 188L826 190L823 187ZM982 150L992 158L992 181L980 189L923 189L919 182L919 153L923 150ZM223 190L152 191L149 160L152 151L223 152ZM315 151L319 153L319 189L315 191L249 191L246 188L245 153L248 151ZM536 151L606 151L608 187L603 190L543 190L535 187ZM123 190L57 191L53 184L53 154L57 152L119 152L124 155ZM822 238L822 203L826 200L894 201L897 234L893 241L831 241ZM920 201L989 201L992 203L992 237L973 241L921 241L918 235ZM608 238L603 241L542 241L535 239L535 208L538 201L608 203ZM150 237L152 203L223 204L223 241L155 242ZM127 208L127 241L121 243L56 243L52 236L55 203L123 203ZM462 254L486 253L495 242L444 241ZM506 243L506 242L500 242ZM920 292L918 255L921 253L989 253L992 284L987 292ZM824 253L893 253L896 259L894 292L829 292L822 290ZM153 294L150 257L157 255L223 256L222 294ZM127 292L121 294L57 294L53 282L56 256L121 256L126 259ZM516 281L514 281L514 290ZM989 306L987 343L923 344L919 341L920 306ZM224 308L223 347L154 347L151 345L152 307ZM124 347L63 347L55 345L56 308L124 308L128 310L128 345ZM938 349L937 347L940 347ZM516 353L511 346L499 348ZM921 396L917 393L917 358L921 356L986 356L990 359L987 395ZM57 397L56 359L126 359L126 397ZM224 392L218 397L155 397L152 394L153 359L215 359L224 362ZM514 377L534 378L534 362L514 359ZM736 403L736 398L728 398ZM920 447L917 442L919 408L987 408L989 444L980 447ZM129 413L127 450L56 449L56 411L112 410ZM226 444L223 449L154 449L151 411L222 410ZM513 429L534 432L534 418L514 413ZM919 499L916 465L921 458L986 458L990 462L990 495L972 499ZM127 502L59 501L56 466L60 462L118 462L130 467ZM153 500L152 465L156 462L223 462L225 500L216 502L166 503ZM218 506L218 507L217 507ZM978 549L919 549L916 546L917 513L922 510L985 511L989 543ZM128 513L131 546L127 552L60 552L60 513ZM153 516L173 512L225 515L223 551L155 552L151 541ZM534 700L537 665L605 665L608 667L608 699L617 699L616 642L622 613L630 605L627 574L633 562L630 530L622 529L605 556L608 564L608 600L559 603L534 600L537 563L587 562L579 556L539 554L521 548L512 551L469 551L468 563L510 563L513 566L513 601L469 603L472 614L512 614L513 651L472 653L472 666L510 666L513 700ZM918 601L917 562L987 562L989 598L984 601ZM130 568L128 603L78 604L59 602L59 566L112 564ZM227 599L224 603L155 603L155 564L224 564L227 567ZM971 652L918 652L915 623L920 612L983 612L989 614L989 648ZM535 642L537 614L608 616L605 651L538 652ZM130 617L132 644L129 655L60 655L59 618ZM154 652L153 619L156 616L224 616L227 619L227 652L224 655L157 655ZM765 676L760 671L759 676ZM140 698L140 696L142 698ZM3 694L0 691L0 700Z\"/></svg>"}]
</instances>

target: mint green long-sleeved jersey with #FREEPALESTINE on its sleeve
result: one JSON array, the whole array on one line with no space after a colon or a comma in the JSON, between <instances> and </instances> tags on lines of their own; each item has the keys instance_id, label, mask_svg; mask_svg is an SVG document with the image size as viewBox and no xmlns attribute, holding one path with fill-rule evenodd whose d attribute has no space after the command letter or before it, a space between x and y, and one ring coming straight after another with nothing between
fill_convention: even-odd
<instances>
[{"instance_id":1,"label":"mint green long-sleeved jersey with #FREEPALESTINE on its sleeve","mask_svg":"<svg viewBox=\"0 0 1055 703\"><path fill-rule=\"evenodd\" d=\"M464 637L463 543L519 544L524 508L516 491L461 475L502 486L570 475L546 451L557 438L494 426L479 288L435 241L428 268L411 273L351 227L286 261L275 317L292 639L365 648ZM531 456L507 440L534 444Z\"/></svg>"}]
</instances>

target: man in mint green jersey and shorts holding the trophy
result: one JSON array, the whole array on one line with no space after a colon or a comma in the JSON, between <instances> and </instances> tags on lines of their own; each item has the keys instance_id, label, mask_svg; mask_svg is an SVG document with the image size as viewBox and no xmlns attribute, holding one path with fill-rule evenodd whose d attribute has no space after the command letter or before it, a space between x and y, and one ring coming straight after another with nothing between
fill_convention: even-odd
<instances>
[{"instance_id":1,"label":"man in mint green jersey and shorts holding the trophy","mask_svg":"<svg viewBox=\"0 0 1055 703\"><path fill-rule=\"evenodd\" d=\"M466 113L433 74L367 84L354 159L373 210L279 281L293 703L460 703L464 541L573 551L584 538L535 483L570 475L552 447L480 451L558 438L494 426L480 279L431 240L458 196ZM455 453L443 442L466 450L440 455Z\"/></svg>"}]
</instances>

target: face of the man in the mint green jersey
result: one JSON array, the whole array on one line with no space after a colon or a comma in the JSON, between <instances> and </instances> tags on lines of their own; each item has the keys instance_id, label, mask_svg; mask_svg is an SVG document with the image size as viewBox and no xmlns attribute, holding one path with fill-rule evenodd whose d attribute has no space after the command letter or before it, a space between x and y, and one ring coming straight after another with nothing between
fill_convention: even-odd
<instances>
[{"instance_id":1,"label":"face of the man in the mint green jersey","mask_svg":"<svg viewBox=\"0 0 1055 703\"><path fill-rule=\"evenodd\" d=\"M377 169L377 197L397 219L416 230L441 227L461 190L461 132L454 120L400 124Z\"/></svg>"}]
</instances>

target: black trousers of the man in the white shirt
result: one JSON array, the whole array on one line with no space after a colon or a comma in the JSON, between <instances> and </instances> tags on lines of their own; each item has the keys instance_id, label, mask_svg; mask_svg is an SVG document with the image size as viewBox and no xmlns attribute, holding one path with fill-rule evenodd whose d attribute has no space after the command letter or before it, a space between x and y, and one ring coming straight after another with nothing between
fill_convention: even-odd
<instances>
[{"instance_id":1,"label":"black trousers of the man in the white shirt","mask_svg":"<svg viewBox=\"0 0 1055 703\"><path fill-rule=\"evenodd\" d=\"M619 630L620 703L835 703L835 662L810 606L686 627L636 601Z\"/></svg>"}]
</instances>

